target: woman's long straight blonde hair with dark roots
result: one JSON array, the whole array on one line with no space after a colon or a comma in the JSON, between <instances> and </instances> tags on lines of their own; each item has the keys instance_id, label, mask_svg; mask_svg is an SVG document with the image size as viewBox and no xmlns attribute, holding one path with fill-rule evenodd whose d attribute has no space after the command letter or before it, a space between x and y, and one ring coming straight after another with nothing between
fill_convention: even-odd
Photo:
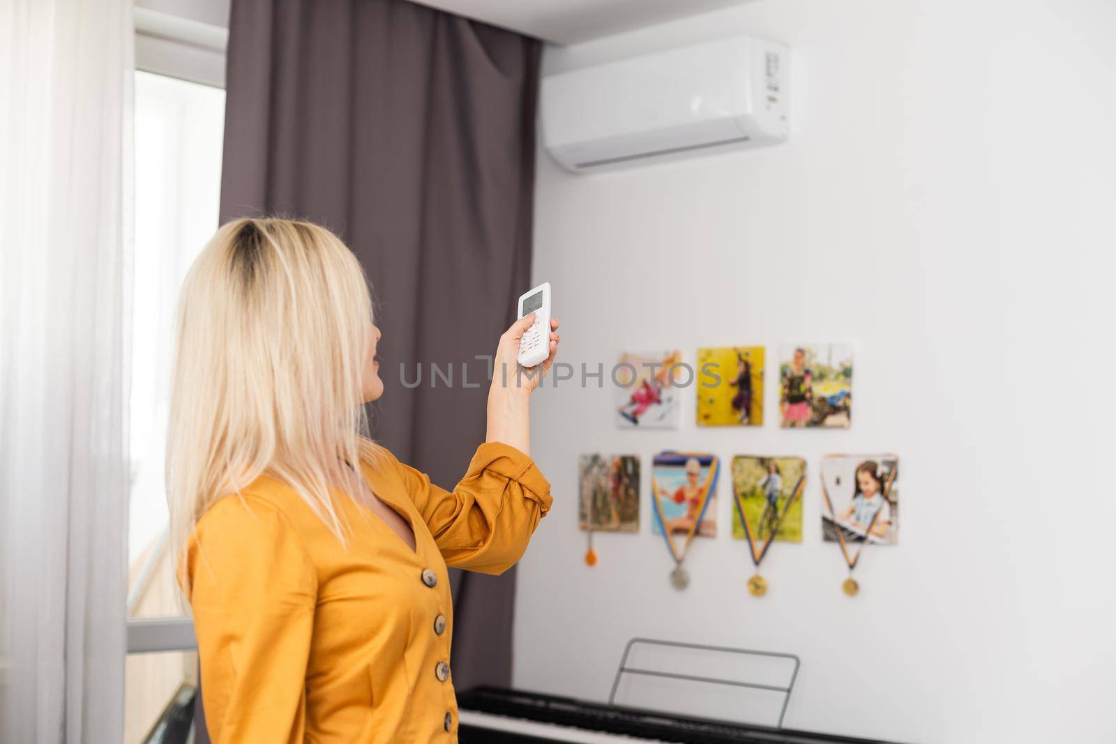
<instances>
[{"instance_id":1,"label":"woman's long straight blonde hair with dark roots","mask_svg":"<svg viewBox=\"0 0 1116 744\"><path fill-rule=\"evenodd\" d=\"M360 263L325 228L258 219L217 231L179 299L166 439L176 560L206 510L260 475L346 542L330 486L357 496L346 463L379 453L362 405L372 322Z\"/></svg>"}]
</instances>

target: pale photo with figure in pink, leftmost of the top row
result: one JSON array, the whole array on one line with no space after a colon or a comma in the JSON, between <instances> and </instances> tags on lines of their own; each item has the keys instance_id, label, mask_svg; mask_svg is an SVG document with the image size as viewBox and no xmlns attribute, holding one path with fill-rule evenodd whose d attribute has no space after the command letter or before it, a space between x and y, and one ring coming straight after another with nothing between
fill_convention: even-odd
<instances>
[{"instance_id":1,"label":"pale photo with figure in pink, leftmost of the top row","mask_svg":"<svg viewBox=\"0 0 1116 744\"><path fill-rule=\"evenodd\" d=\"M679 388L672 383L674 365L682 352L627 351L620 355L613 377L616 388L616 423L622 428L677 428ZM685 371L675 371L685 381Z\"/></svg>"}]
</instances>

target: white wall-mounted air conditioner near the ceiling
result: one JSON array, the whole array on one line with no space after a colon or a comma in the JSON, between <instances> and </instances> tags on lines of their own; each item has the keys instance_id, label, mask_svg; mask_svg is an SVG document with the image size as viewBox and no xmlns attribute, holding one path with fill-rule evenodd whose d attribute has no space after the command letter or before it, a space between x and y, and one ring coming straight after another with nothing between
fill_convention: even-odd
<instances>
[{"instance_id":1,"label":"white wall-mounted air conditioner near the ceiling","mask_svg":"<svg viewBox=\"0 0 1116 744\"><path fill-rule=\"evenodd\" d=\"M790 52L732 37L542 78L542 142L578 173L783 142Z\"/></svg>"}]
</instances>

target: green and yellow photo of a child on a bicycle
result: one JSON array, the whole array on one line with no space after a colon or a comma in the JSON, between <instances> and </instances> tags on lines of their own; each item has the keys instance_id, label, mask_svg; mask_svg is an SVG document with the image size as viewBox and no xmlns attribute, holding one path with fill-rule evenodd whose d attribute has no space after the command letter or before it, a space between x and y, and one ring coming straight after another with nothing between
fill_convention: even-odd
<instances>
[{"instance_id":1,"label":"green and yellow photo of a child on a bicycle","mask_svg":"<svg viewBox=\"0 0 1116 744\"><path fill-rule=\"evenodd\" d=\"M806 483L806 461L801 457L759 457L737 455L732 458L732 492L737 509L732 510L732 537L762 542L771 537L782 542L802 541L802 486ZM741 521L748 520L748 531Z\"/></svg>"}]
</instances>

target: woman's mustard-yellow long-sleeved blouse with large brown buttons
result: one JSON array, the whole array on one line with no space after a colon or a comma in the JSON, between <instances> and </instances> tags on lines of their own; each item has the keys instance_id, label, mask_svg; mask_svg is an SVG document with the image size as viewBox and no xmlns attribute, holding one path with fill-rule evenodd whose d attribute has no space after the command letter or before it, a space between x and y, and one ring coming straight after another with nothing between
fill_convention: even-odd
<instances>
[{"instance_id":1,"label":"woman's mustard-yellow long-sleeved blouse with large brown buttons","mask_svg":"<svg viewBox=\"0 0 1116 744\"><path fill-rule=\"evenodd\" d=\"M482 444L453 492L386 455L363 464L416 549L349 497L343 548L288 485L218 501L185 551L205 723L217 744L455 742L446 566L500 573L550 508L514 447Z\"/></svg>"}]
</instances>

